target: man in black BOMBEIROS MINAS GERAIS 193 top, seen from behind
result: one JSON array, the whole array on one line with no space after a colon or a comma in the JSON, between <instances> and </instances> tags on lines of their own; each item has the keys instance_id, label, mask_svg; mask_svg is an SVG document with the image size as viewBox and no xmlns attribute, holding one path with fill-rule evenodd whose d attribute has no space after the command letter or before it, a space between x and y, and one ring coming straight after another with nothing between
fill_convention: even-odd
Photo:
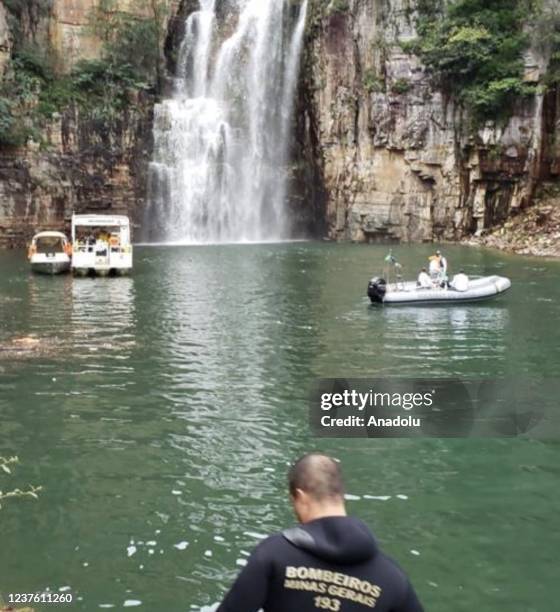
<instances>
[{"instance_id":1,"label":"man in black BOMBEIROS MINAS GERAIS 193 top, seen from behind","mask_svg":"<svg viewBox=\"0 0 560 612\"><path fill-rule=\"evenodd\" d=\"M288 481L300 524L255 548L218 612L423 612L405 573L346 515L337 462L305 455Z\"/></svg>"}]
</instances>

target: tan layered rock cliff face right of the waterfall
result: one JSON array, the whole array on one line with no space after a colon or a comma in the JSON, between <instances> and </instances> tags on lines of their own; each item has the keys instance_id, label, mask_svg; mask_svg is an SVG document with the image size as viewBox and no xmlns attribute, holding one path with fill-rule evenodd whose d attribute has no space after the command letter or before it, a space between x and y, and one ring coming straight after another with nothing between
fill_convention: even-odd
<instances>
[{"instance_id":1,"label":"tan layered rock cliff face right of the waterfall","mask_svg":"<svg viewBox=\"0 0 560 612\"><path fill-rule=\"evenodd\" d=\"M402 50L416 37L418 4L312 5L298 140L312 148L323 187L311 195L333 239L456 240L502 223L558 176L558 93L473 134L468 114ZM530 50L525 80L545 70Z\"/></svg>"}]
</instances>

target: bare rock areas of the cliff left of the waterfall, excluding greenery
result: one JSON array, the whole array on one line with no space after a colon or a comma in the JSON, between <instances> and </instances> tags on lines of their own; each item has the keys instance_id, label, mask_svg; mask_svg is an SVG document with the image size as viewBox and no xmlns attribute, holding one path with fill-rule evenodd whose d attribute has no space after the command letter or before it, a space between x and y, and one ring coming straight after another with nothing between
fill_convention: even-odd
<instances>
[{"instance_id":1,"label":"bare rock areas of the cliff left of the waterfall, excluding greenery","mask_svg":"<svg viewBox=\"0 0 560 612\"><path fill-rule=\"evenodd\" d=\"M100 56L102 41L90 23L99 0L21 4L18 24L12 15L12 29L20 29L22 44L51 53L59 73L70 71L79 60ZM147 0L115 0L110 5L112 11L144 18L151 6ZM165 3L163 28L177 6ZM11 69L9 23L0 2L0 74ZM154 92L131 93L127 108L110 120L70 104L41 128L40 142L0 147L0 247L22 246L39 229L65 228L72 212L128 214L139 222L152 152L154 102Z\"/></svg>"}]
</instances>

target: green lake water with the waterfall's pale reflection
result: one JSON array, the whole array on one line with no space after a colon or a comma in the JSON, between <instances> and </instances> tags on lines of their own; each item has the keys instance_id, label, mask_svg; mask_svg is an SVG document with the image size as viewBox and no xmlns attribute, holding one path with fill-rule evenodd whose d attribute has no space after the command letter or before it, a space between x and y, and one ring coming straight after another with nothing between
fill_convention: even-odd
<instances>
[{"instance_id":1,"label":"green lake water with the waterfall's pale reflection","mask_svg":"<svg viewBox=\"0 0 560 612\"><path fill-rule=\"evenodd\" d=\"M431 247L398 247L415 275ZM0 593L70 587L71 606L216 603L259 538L289 525L285 473L342 461L349 510L427 611L549 612L560 599L560 445L325 440L317 377L557 378L560 263L448 247L503 274L494 302L375 308L384 247L138 247L130 278L44 278L0 253ZM16 353L16 337L39 342ZM377 498L377 499L376 499ZM381 499L379 499L381 498Z\"/></svg>"}]
</instances>

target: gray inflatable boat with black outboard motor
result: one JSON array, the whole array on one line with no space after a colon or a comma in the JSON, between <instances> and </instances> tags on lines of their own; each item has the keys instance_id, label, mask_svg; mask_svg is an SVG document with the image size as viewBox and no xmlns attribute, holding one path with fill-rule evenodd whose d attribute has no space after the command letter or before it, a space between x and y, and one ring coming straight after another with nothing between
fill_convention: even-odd
<instances>
[{"instance_id":1,"label":"gray inflatable boat with black outboard motor","mask_svg":"<svg viewBox=\"0 0 560 612\"><path fill-rule=\"evenodd\" d=\"M478 302L505 293L511 281L504 276L483 276L469 280L465 291L452 287L423 289L416 282L387 284L385 279L372 278L368 285L368 297L374 304L443 304L458 302Z\"/></svg>"}]
</instances>

